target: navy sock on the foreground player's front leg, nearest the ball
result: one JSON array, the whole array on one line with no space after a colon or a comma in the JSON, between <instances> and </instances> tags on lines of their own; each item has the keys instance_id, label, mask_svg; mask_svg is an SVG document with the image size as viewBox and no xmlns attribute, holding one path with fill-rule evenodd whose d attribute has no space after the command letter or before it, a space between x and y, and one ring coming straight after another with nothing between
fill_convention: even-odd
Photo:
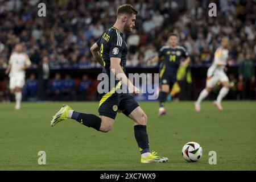
<instances>
[{"instance_id":1,"label":"navy sock on the foreground player's front leg, nearest the ball","mask_svg":"<svg viewBox=\"0 0 256 182\"><path fill-rule=\"evenodd\" d=\"M138 143L139 150L141 154L150 152L147 129L145 125L135 125L134 126L134 135Z\"/></svg>"}]
</instances>

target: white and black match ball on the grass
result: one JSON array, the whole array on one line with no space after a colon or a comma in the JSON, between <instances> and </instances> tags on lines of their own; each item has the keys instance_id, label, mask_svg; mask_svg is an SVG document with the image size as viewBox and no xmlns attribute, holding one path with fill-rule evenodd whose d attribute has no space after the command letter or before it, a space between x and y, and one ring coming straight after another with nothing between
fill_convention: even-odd
<instances>
[{"instance_id":1,"label":"white and black match ball on the grass","mask_svg":"<svg viewBox=\"0 0 256 182\"><path fill-rule=\"evenodd\" d=\"M187 162L197 162L203 155L203 148L199 143L188 142L182 148L182 156Z\"/></svg>"}]
</instances>

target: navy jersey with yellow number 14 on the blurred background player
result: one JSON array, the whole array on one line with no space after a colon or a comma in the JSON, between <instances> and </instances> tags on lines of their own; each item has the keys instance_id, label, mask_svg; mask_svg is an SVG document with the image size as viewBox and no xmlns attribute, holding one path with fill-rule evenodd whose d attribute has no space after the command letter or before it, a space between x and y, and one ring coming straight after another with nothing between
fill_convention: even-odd
<instances>
[{"instance_id":1,"label":"navy jersey with yellow number 14 on the blurred background player","mask_svg":"<svg viewBox=\"0 0 256 182\"><path fill-rule=\"evenodd\" d=\"M182 58L188 57L187 50L182 46L171 48L170 46L163 46L158 53L159 60L162 60L160 65L159 77L163 75L176 79L177 69L179 68Z\"/></svg>"}]
</instances>

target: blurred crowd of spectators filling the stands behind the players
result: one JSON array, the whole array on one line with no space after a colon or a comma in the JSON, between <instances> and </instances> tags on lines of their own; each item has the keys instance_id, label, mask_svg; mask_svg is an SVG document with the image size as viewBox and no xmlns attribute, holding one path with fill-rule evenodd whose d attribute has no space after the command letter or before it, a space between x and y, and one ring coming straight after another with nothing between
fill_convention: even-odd
<instances>
[{"instance_id":1,"label":"blurred crowd of spectators filling the stands behind the players","mask_svg":"<svg viewBox=\"0 0 256 182\"><path fill-rule=\"evenodd\" d=\"M43 56L51 67L95 67L89 47L111 26L115 9L130 3L139 10L136 30L125 35L130 55L127 65L141 67L166 43L169 32L179 35L194 65L212 63L220 38L231 40L229 63L241 63L247 52L256 55L255 1L43 1L46 17L38 16L39 0L0 0L0 68L22 42L37 67ZM85 3L86 2L86 3ZM189 3L190 2L190 3ZM217 17L208 15L210 2ZM111 5L111 6L110 6ZM104 11L103 11L104 10Z\"/></svg>"}]
</instances>

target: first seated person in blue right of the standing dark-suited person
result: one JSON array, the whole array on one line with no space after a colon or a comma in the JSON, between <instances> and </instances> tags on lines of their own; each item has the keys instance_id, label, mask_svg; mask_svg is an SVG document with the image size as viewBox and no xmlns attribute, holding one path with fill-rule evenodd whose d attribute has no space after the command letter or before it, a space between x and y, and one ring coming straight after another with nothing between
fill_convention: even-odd
<instances>
[{"instance_id":1,"label":"first seated person in blue right of the standing dark-suited person","mask_svg":"<svg viewBox=\"0 0 256 182\"><path fill-rule=\"evenodd\" d=\"M56 73L51 86L53 99L60 101L63 96L63 81L60 79L60 73Z\"/></svg>"}]
</instances>

